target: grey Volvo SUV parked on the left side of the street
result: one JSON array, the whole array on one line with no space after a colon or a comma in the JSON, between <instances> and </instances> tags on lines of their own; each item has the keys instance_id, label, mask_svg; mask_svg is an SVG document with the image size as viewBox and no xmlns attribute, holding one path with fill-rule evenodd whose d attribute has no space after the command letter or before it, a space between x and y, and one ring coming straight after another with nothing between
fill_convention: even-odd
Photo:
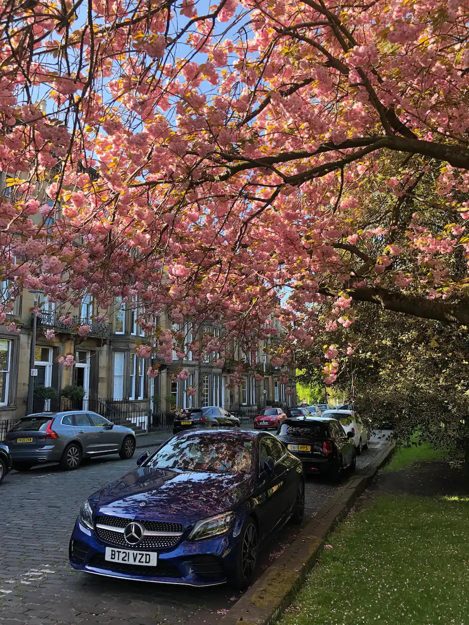
<instances>
[{"instance_id":1,"label":"grey Volvo SUV parked on the left side of the street","mask_svg":"<svg viewBox=\"0 0 469 625\"><path fill-rule=\"evenodd\" d=\"M6 435L17 471L33 464L58 462L76 469L84 457L119 454L129 459L135 451L135 433L116 426L96 412L38 412L19 419Z\"/></svg>"}]
</instances>

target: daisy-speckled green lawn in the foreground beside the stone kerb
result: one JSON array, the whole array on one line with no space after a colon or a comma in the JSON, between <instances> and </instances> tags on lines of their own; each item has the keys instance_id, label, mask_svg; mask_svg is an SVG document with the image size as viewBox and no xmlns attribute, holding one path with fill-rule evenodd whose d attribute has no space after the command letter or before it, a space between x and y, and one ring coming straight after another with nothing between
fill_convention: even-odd
<instances>
[{"instance_id":1,"label":"daisy-speckled green lawn in the foreground beside the stone kerb","mask_svg":"<svg viewBox=\"0 0 469 625\"><path fill-rule=\"evenodd\" d=\"M469 623L469 497L386 495L328 540L280 625Z\"/></svg>"}]
</instances>

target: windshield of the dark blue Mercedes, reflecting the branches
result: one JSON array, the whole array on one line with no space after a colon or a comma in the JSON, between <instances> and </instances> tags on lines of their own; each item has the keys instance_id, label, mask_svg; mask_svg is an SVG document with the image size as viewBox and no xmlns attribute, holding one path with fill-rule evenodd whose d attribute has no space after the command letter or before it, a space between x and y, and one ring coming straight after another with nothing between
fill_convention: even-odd
<instances>
[{"instance_id":1,"label":"windshield of the dark blue Mercedes, reflecting the branches","mask_svg":"<svg viewBox=\"0 0 469 625\"><path fill-rule=\"evenodd\" d=\"M178 471L245 473L251 470L253 441L240 437L175 437L151 457L146 466Z\"/></svg>"}]
</instances>

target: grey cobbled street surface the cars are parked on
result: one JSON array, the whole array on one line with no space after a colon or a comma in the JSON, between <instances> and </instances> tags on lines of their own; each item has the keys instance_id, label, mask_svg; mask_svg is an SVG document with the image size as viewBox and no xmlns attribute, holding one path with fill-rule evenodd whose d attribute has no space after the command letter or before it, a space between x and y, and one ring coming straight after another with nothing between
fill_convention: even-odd
<instances>
[{"instance_id":1,"label":"grey cobbled street surface the cars are parked on","mask_svg":"<svg viewBox=\"0 0 469 625\"><path fill-rule=\"evenodd\" d=\"M170 436L158 432L138 437L151 450ZM356 474L366 469L387 445L372 437L357 458ZM96 458L77 471L48 465L28 473L12 471L0 486L0 624L1 625L212 625L228 612L240 592L229 586L191 589L106 579L74 571L68 542L79 507L104 484L134 467L118 456ZM306 482L306 516L313 516L350 479L336 485L321 477ZM258 576L298 536L283 527L261 554Z\"/></svg>"}]
</instances>

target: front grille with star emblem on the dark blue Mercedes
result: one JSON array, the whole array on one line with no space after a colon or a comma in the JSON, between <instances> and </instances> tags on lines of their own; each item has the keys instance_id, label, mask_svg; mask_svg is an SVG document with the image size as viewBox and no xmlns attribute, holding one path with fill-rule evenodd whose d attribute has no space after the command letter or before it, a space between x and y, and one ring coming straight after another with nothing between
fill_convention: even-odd
<instances>
[{"instance_id":1,"label":"front grille with star emblem on the dark blue Mercedes","mask_svg":"<svg viewBox=\"0 0 469 625\"><path fill-rule=\"evenodd\" d=\"M121 517L98 516L96 526L107 525L108 527L126 527L133 519L123 519ZM145 529L151 532L178 532L182 534L184 526L180 523L168 523L165 521L138 521ZM103 527L96 527L96 536L99 540L118 547L132 547L133 549L171 549L176 546L181 536L144 536L137 545L129 545L124 538L124 534Z\"/></svg>"}]
</instances>

